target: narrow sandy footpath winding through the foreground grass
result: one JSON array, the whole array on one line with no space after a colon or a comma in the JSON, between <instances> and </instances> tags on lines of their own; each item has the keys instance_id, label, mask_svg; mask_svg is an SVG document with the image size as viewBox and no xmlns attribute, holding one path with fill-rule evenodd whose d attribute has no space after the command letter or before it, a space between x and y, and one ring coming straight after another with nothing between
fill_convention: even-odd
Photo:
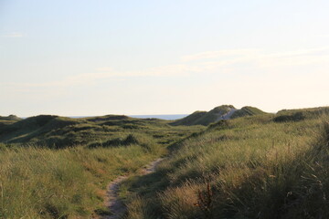
<instances>
[{"instance_id":1,"label":"narrow sandy footpath winding through the foreground grass","mask_svg":"<svg viewBox=\"0 0 329 219\"><path fill-rule=\"evenodd\" d=\"M159 162L163 160L163 158L159 158L154 162L149 163L142 169L142 173L140 175L147 175L154 172L156 166L159 164ZM128 176L119 176L108 185L106 205L109 207L112 215L103 216L102 219L119 219L125 213L126 207L119 199L118 193L120 189L120 184L127 178Z\"/></svg>"}]
</instances>

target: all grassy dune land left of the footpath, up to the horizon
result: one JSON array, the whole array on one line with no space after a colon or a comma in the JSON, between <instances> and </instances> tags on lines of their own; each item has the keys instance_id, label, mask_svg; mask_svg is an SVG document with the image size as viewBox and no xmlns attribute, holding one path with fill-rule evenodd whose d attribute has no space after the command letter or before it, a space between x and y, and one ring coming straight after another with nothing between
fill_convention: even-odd
<instances>
[{"instance_id":1,"label":"all grassy dune land left of the footpath, up to the horizon","mask_svg":"<svg viewBox=\"0 0 329 219\"><path fill-rule=\"evenodd\" d=\"M111 214L106 185L166 153L202 127L124 116L41 115L0 127L0 218L90 218Z\"/></svg>"}]
</instances>

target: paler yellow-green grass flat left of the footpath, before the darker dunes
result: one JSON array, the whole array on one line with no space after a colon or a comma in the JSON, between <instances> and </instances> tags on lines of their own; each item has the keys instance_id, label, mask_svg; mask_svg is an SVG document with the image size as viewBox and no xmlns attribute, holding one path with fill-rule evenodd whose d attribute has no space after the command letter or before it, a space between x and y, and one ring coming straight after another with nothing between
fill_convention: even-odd
<instances>
[{"instance_id":1,"label":"paler yellow-green grass flat left of the footpath, before the darker dunes","mask_svg":"<svg viewBox=\"0 0 329 219\"><path fill-rule=\"evenodd\" d=\"M138 144L65 150L0 152L0 218L88 218L105 213L106 184L161 156L164 149Z\"/></svg>"}]
</instances>

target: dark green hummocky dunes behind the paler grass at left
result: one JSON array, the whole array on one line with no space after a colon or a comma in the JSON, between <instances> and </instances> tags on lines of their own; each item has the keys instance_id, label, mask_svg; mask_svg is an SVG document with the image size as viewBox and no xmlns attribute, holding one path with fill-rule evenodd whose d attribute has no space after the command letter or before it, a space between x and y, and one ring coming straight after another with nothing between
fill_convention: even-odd
<instances>
[{"instance_id":1,"label":"dark green hummocky dunes behind the paler grass at left","mask_svg":"<svg viewBox=\"0 0 329 219\"><path fill-rule=\"evenodd\" d=\"M40 115L0 126L0 142L65 148L81 144L102 145L102 142L124 139L131 133L143 133L157 142L169 143L179 135L177 130L168 126L167 121L156 119L118 115L70 119Z\"/></svg>"}]
</instances>

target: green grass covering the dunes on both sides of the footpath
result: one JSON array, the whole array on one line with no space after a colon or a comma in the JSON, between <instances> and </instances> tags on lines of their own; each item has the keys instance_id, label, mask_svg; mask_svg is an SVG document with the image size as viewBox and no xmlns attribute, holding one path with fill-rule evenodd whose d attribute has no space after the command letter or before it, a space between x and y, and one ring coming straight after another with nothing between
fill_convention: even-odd
<instances>
[{"instance_id":1,"label":"green grass covering the dunes on both sides of the footpath","mask_svg":"<svg viewBox=\"0 0 329 219\"><path fill-rule=\"evenodd\" d=\"M106 185L122 174L126 219L327 218L328 114L246 107L207 128L116 115L2 123L0 218L111 214ZM138 173L167 149L156 172Z\"/></svg>"}]
</instances>

